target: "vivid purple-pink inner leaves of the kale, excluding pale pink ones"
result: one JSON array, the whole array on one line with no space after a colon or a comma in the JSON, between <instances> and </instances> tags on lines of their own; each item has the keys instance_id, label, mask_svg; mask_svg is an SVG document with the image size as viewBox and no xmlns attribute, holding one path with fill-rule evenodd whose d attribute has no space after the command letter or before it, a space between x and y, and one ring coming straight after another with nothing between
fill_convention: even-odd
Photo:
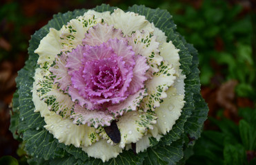
<instances>
[{"instance_id":1,"label":"vivid purple-pink inner leaves of the kale, excluding pale pink ones","mask_svg":"<svg viewBox=\"0 0 256 165\"><path fill-rule=\"evenodd\" d=\"M120 43L121 48L117 50L118 45L110 47L112 43ZM77 47L69 54L79 57L81 61L78 71L68 72L72 86L81 97L94 104L91 110L106 109L106 106L118 104L134 94L128 89L135 67L135 52L127 43L124 50L124 44L124 41L110 39L101 45ZM124 51L120 53L122 50ZM77 68L75 64L72 65L71 58L68 58L67 63L68 69Z\"/></svg>"}]
</instances>

